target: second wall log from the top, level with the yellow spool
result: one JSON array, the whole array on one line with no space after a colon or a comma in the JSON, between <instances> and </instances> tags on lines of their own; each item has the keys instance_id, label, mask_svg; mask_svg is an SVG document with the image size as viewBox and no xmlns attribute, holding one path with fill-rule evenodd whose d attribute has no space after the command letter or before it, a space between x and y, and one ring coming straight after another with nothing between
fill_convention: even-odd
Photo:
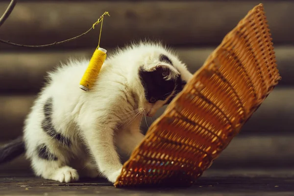
<instances>
[{"instance_id":1,"label":"second wall log from the top, level with the yellow spool","mask_svg":"<svg viewBox=\"0 0 294 196\"><path fill-rule=\"evenodd\" d=\"M180 59L195 73L214 48L176 48ZM108 49L111 55L113 49ZM279 86L294 85L294 47L276 47L278 69L282 76ZM71 57L90 58L93 49L50 52L0 53L0 91L9 93L37 93L48 71Z\"/></svg>"}]
</instances>

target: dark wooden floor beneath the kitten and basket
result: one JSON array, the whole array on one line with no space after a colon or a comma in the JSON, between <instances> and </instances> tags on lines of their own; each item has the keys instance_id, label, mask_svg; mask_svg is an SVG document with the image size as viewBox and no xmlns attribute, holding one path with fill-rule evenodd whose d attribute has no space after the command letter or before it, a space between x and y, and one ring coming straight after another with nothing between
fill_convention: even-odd
<instances>
[{"instance_id":1,"label":"dark wooden floor beneath the kitten and basket","mask_svg":"<svg viewBox=\"0 0 294 196\"><path fill-rule=\"evenodd\" d=\"M294 172L207 171L189 188L118 189L103 179L57 183L33 176L1 174L0 196L293 196Z\"/></svg>"}]
</instances>

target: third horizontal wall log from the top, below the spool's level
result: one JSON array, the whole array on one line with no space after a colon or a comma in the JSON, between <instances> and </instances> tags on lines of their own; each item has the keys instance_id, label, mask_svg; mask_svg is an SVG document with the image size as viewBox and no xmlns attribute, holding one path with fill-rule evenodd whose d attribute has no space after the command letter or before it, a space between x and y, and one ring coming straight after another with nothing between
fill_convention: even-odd
<instances>
[{"instance_id":1,"label":"third horizontal wall log from the top, below the spool's level","mask_svg":"<svg viewBox=\"0 0 294 196\"><path fill-rule=\"evenodd\" d=\"M246 135L291 134L294 127L294 88L276 88L245 124L240 133ZM0 96L0 141L16 138L22 133L25 116L36 96ZM165 107L153 117L158 118ZM142 129L147 130L153 121L142 119ZM147 126L148 125L148 126Z\"/></svg>"}]
</instances>

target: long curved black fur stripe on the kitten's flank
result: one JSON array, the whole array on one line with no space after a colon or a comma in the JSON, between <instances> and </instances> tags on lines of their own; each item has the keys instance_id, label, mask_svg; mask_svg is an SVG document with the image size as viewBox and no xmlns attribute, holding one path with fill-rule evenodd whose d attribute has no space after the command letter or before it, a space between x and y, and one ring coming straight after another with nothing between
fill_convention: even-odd
<instances>
[{"instance_id":1,"label":"long curved black fur stripe on the kitten's flank","mask_svg":"<svg viewBox=\"0 0 294 196\"><path fill-rule=\"evenodd\" d=\"M44 115L45 119L42 121L42 128L43 130L52 138L58 140L59 142L63 143L64 145L70 146L71 141L58 133L52 123L52 98L49 98L46 103L44 104Z\"/></svg>"}]
</instances>

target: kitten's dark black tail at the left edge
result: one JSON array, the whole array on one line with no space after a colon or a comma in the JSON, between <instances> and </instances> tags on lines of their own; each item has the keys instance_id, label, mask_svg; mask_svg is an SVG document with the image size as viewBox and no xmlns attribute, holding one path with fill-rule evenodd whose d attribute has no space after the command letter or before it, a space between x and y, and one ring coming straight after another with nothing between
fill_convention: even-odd
<instances>
[{"instance_id":1,"label":"kitten's dark black tail at the left edge","mask_svg":"<svg viewBox=\"0 0 294 196\"><path fill-rule=\"evenodd\" d=\"M9 162L25 152L23 136L12 140L10 143L0 146L0 164Z\"/></svg>"}]
</instances>

